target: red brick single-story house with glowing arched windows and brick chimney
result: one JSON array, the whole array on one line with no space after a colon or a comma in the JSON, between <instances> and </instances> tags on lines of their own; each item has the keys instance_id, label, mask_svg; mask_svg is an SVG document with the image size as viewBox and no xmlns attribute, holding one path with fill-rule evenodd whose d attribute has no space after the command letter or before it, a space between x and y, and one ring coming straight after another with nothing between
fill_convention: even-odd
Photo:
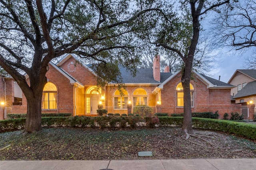
<instances>
[{"instance_id":1,"label":"red brick single-story house with glowing arched windows and brick chimney","mask_svg":"<svg viewBox=\"0 0 256 170\"><path fill-rule=\"evenodd\" d=\"M96 74L86 64L78 64L78 61L76 55L67 54L58 63L49 63L49 71L46 73L48 83L42 97L42 113L97 115L100 106L106 108L108 113L121 114L128 113L130 105L132 108L138 105L150 106L152 114L183 112L181 72L172 74L168 72L168 67L165 72L160 72L159 55L154 57L153 68L138 68L136 76L132 76L126 68L120 68L126 87L123 96L117 86L111 83L103 89L97 88ZM197 72L193 72L193 76L190 83L192 112L218 111L219 118L222 119L224 113L240 111L240 104L230 102L233 85ZM0 88L3 80L5 78L0 80ZM2 94L1 92L0 100L4 100ZM13 102L14 96L10 100ZM13 113L26 113L24 94L21 100L22 105L13 107ZM12 105L12 102L9 104Z\"/></svg>"}]
</instances>

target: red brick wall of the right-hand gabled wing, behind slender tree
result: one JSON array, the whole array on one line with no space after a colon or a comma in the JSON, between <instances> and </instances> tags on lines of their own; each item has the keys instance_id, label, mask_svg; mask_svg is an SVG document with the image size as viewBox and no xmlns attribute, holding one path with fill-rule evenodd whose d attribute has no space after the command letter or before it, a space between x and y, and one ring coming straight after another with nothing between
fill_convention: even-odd
<instances>
[{"instance_id":1,"label":"red brick wall of the right-hand gabled wing, behind slender tree","mask_svg":"<svg viewBox=\"0 0 256 170\"><path fill-rule=\"evenodd\" d=\"M178 74L170 82L164 85L161 90L161 105L157 105L157 112L161 113L183 113L183 107L176 106L176 86L180 83L181 75ZM191 80L194 86L194 107L192 112L216 112L223 119L224 113L240 112L241 105L234 105L230 102L230 89L208 89L200 81Z\"/></svg>"}]
</instances>

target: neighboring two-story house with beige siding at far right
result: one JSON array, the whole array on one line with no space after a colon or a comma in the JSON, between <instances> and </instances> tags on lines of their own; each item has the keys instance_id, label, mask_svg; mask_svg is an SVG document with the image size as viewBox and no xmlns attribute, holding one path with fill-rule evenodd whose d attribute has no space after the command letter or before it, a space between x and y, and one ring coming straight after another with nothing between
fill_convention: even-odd
<instances>
[{"instance_id":1,"label":"neighboring two-story house with beige siding at far right","mask_svg":"<svg viewBox=\"0 0 256 170\"><path fill-rule=\"evenodd\" d=\"M256 102L256 70L236 70L230 80L229 84L236 86L231 89L232 99L235 100L236 104L242 104L244 108L248 108L250 105L254 107ZM241 109L242 110L242 109ZM255 113L256 110L250 111ZM249 112L248 112L249 113ZM246 114L248 114L246 112ZM244 113L242 113L244 114ZM252 115L252 114L250 114ZM247 116L250 116L247 115Z\"/></svg>"}]
</instances>

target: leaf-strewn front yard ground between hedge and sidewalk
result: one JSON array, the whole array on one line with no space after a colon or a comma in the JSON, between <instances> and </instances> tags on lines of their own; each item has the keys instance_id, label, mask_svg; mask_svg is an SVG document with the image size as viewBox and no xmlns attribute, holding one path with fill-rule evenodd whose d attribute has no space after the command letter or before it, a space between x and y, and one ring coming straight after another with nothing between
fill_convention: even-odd
<instances>
[{"instance_id":1,"label":"leaf-strewn front yard ground between hedge and sidewalk","mask_svg":"<svg viewBox=\"0 0 256 170\"><path fill-rule=\"evenodd\" d=\"M256 158L256 141L198 129L186 140L179 127L58 127L26 136L14 131L0 133L0 149L0 160ZM153 156L139 157L140 151L152 151Z\"/></svg>"}]
</instances>

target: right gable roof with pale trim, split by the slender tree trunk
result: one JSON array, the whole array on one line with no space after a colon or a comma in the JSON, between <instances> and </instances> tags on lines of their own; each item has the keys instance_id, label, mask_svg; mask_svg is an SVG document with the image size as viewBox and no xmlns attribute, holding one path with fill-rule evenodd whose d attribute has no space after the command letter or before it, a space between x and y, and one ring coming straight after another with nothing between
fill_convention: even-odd
<instances>
[{"instance_id":1,"label":"right gable roof with pale trim, split by the slender tree trunk","mask_svg":"<svg viewBox=\"0 0 256 170\"><path fill-rule=\"evenodd\" d=\"M231 85L231 84L227 84L225 82L216 80L214 78L210 78L204 74L200 74L196 71L192 71L194 72L194 74L196 74L196 77L201 80L202 82L204 82L204 84L207 85L207 88L234 88L235 86ZM172 76L170 76L169 78L167 78L162 84L160 84L158 86L158 88L163 88L164 84L166 84L167 82L169 82L174 76L176 76L178 73L180 73L180 71L175 72L174 74L172 74Z\"/></svg>"}]
</instances>

